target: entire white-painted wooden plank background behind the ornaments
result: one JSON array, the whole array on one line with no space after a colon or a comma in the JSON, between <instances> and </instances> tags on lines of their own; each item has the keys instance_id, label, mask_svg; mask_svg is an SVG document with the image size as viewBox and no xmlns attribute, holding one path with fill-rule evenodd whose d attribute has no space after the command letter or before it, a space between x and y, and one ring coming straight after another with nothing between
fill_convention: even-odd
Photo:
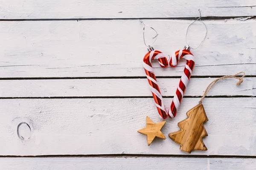
<instances>
[{"instance_id":1,"label":"entire white-painted wooden plank background behind the ornaments","mask_svg":"<svg viewBox=\"0 0 256 170\"><path fill-rule=\"evenodd\" d=\"M159 34L166 56L185 45L200 8L207 38L166 140L137 133L149 116L161 119L142 67L142 19ZM253 170L256 167L255 0L3 0L0 2L0 167L4 170ZM146 40L154 34L146 28ZM198 45L205 28L189 30ZM166 106L185 61L153 63ZM179 150L168 134L204 99L208 150ZM27 157L22 157L27 156Z\"/></svg>"}]
</instances>

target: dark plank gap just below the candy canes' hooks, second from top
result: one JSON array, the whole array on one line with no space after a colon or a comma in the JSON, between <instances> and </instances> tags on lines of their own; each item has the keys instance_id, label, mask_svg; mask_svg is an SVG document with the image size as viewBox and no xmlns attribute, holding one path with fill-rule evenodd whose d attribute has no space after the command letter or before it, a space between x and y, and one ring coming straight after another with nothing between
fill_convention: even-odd
<instances>
[{"instance_id":1,"label":"dark plank gap just below the candy canes' hooks, second from top","mask_svg":"<svg viewBox=\"0 0 256 170\"><path fill-rule=\"evenodd\" d=\"M221 76L191 76L190 78L219 78ZM245 76L245 77L256 77L256 75ZM0 78L0 80L29 80L29 79L146 79L145 76L133 76L133 77L10 77ZM156 76L158 79L177 79L180 76Z\"/></svg>"}]
</instances>

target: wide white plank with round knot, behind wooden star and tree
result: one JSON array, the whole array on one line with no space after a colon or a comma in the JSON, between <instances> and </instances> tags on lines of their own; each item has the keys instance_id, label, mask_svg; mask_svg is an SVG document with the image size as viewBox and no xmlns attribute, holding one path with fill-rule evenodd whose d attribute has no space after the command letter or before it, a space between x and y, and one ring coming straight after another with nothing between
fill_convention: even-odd
<instances>
[{"instance_id":1,"label":"wide white plank with round knot, behind wooden star and tree","mask_svg":"<svg viewBox=\"0 0 256 170\"><path fill-rule=\"evenodd\" d=\"M166 106L170 100L164 99ZM163 134L179 130L177 123L198 101L184 98L175 119L167 119ZM255 156L255 103L256 98L204 99L208 150L191 154ZM1 99L0 108L1 156L186 154L171 139L155 139L148 147L146 136L137 133L145 127L146 116L162 121L151 98ZM28 140L17 135L21 122L31 128Z\"/></svg>"}]
</instances>

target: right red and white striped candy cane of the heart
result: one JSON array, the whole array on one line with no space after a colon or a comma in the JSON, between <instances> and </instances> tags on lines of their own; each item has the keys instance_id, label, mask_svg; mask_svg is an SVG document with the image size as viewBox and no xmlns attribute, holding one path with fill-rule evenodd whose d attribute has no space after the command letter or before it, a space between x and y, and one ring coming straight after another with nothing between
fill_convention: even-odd
<instances>
[{"instance_id":1,"label":"right red and white striped candy cane of the heart","mask_svg":"<svg viewBox=\"0 0 256 170\"><path fill-rule=\"evenodd\" d=\"M180 83L177 87L174 98L172 100L170 110L168 112L168 116L171 118L174 118L177 114L177 110L180 106L180 102L183 98L186 87L189 84L189 79L191 77L193 68L195 66L195 61L194 61L195 57L190 52L190 48L188 46L185 46L184 50L179 50L179 51L175 52L175 56L172 56L172 58L171 58L170 66L176 67L180 58L186 59L186 65L185 65L184 71L181 75Z\"/></svg>"}]
</instances>

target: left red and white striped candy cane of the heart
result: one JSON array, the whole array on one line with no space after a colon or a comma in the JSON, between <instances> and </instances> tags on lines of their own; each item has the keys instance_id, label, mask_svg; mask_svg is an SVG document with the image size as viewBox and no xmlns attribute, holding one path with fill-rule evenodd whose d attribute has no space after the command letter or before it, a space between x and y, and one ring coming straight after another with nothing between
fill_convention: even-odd
<instances>
[{"instance_id":1,"label":"left red and white striped candy cane of the heart","mask_svg":"<svg viewBox=\"0 0 256 170\"><path fill-rule=\"evenodd\" d=\"M168 113L166 112L166 108L163 104L163 97L160 93L160 89L157 85L157 79L154 75L154 70L151 64L152 59L158 59L158 62L162 68L166 68L168 66L168 60L161 51L156 51L152 47L148 48L148 53L143 58L143 67L148 78L148 83L153 94L154 102L157 106L157 111L163 119L166 119L168 117Z\"/></svg>"}]
</instances>

